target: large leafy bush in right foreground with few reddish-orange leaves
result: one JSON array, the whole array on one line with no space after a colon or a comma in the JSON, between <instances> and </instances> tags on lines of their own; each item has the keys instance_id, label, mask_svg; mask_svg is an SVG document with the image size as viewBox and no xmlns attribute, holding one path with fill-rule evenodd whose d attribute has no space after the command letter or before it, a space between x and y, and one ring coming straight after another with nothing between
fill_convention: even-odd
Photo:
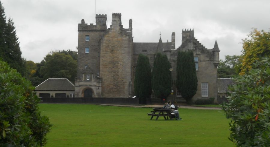
<instances>
[{"instance_id":1,"label":"large leafy bush in right foreground with few reddish-orange leaves","mask_svg":"<svg viewBox=\"0 0 270 147\"><path fill-rule=\"evenodd\" d=\"M234 78L223 111L230 119L230 140L237 146L270 146L270 59L261 58Z\"/></svg>"}]
</instances>

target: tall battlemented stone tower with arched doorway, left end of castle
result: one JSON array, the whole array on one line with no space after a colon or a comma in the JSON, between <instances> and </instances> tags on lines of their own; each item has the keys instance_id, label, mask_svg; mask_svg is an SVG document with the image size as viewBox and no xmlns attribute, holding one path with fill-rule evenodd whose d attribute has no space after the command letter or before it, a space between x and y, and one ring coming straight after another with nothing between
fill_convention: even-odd
<instances>
[{"instance_id":1,"label":"tall battlemented stone tower with arched doorway, left end of castle","mask_svg":"<svg viewBox=\"0 0 270 147\"><path fill-rule=\"evenodd\" d=\"M96 15L96 25L78 24L78 69L75 97L128 97L131 95L132 20L124 29L121 13Z\"/></svg>"}]
</instances>

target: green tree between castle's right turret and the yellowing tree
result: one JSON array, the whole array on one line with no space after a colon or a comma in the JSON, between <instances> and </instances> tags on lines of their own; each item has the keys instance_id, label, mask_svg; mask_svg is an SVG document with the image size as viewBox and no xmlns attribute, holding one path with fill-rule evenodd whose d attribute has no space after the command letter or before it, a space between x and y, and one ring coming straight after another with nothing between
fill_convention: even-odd
<instances>
[{"instance_id":1,"label":"green tree between castle's right turret and the yellowing tree","mask_svg":"<svg viewBox=\"0 0 270 147\"><path fill-rule=\"evenodd\" d=\"M217 67L218 78L232 78L238 75L241 70L241 58L239 55L226 55L225 61L220 60Z\"/></svg>"}]
</instances>

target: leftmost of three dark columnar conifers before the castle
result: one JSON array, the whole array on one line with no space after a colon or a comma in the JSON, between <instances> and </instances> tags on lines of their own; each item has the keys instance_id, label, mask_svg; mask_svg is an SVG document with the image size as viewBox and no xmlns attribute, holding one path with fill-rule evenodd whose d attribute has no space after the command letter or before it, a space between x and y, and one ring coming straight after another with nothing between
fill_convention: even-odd
<instances>
[{"instance_id":1,"label":"leftmost of three dark columnar conifers before the castle","mask_svg":"<svg viewBox=\"0 0 270 147\"><path fill-rule=\"evenodd\" d=\"M152 94L151 67L147 56L140 54L134 78L135 95L140 98L140 103L146 104L146 98Z\"/></svg>"}]
</instances>

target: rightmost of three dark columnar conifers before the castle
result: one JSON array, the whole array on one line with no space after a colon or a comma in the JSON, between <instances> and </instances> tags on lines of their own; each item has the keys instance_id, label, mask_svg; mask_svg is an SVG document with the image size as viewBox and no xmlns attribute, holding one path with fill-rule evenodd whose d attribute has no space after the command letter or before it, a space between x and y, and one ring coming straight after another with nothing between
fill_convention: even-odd
<instances>
[{"instance_id":1,"label":"rightmost of three dark columnar conifers before the castle","mask_svg":"<svg viewBox=\"0 0 270 147\"><path fill-rule=\"evenodd\" d=\"M176 72L177 89L187 103L192 103L192 97L196 94L198 86L192 50L178 52Z\"/></svg>"}]
</instances>

